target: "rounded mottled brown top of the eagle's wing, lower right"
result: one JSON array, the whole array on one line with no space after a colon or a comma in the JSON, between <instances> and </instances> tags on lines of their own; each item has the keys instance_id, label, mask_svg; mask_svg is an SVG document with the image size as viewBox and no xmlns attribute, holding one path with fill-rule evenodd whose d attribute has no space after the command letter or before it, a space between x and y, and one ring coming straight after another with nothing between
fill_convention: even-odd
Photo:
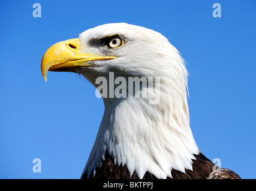
<instances>
[{"instance_id":1,"label":"rounded mottled brown top of the eagle's wing, lower right","mask_svg":"<svg viewBox=\"0 0 256 191\"><path fill-rule=\"evenodd\" d=\"M210 173L207 179L241 179L236 172L228 170L227 168L219 168Z\"/></svg>"}]
</instances>

